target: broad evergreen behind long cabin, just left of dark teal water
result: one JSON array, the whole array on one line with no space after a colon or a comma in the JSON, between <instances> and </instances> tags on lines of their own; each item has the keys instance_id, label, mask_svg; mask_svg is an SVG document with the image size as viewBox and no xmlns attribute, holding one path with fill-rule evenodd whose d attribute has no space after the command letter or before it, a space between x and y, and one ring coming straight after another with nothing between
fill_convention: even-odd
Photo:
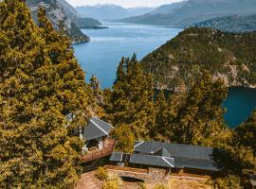
<instances>
[{"instance_id":1,"label":"broad evergreen behind long cabin, just left of dark teal water","mask_svg":"<svg viewBox=\"0 0 256 189\"><path fill-rule=\"evenodd\" d=\"M172 126L173 141L208 145L212 137L226 128L222 103L227 93L222 80L213 81L210 74L203 71L178 108Z\"/></svg>"}]
</instances>

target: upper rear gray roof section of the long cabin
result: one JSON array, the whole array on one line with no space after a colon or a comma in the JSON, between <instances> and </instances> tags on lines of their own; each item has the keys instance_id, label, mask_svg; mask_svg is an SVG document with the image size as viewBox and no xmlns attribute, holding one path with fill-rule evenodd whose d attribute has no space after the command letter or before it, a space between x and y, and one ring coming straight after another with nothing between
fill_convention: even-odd
<instances>
[{"instance_id":1,"label":"upper rear gray roof section of the long cabin","mask_svg":"<svg viewBox=\"0 0 256 189\"><path fill-rule=\"evenodd\" d=\"M167 144L161 142L137 142L135 152L142 154L157 154L174 158L174 167L197 168L217 171L213 160L212 147Z\"/></svg>"}]
</instances>

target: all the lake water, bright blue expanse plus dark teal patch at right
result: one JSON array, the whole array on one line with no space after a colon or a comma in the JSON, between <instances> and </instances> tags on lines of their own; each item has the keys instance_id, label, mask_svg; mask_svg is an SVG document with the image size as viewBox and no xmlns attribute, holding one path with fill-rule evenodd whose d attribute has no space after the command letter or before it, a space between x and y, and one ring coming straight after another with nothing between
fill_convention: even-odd
<instances>
[{"instance_id":1,"label":"all the lake water, bright blue expanse plus dark teal patch at right","mask_svg":"<svg viewBox=\"0 0 256 189\"><path fill-rule=\"evenodd\" d=\"M158 46L174 38L182 29L159 26L108 23L108 29L84 29L91 38L90 43L75 44L76 58L86 72L88 81L96 75L101 87L110 88L116 78L121 57L137 54L140 60ZM256 90L244 88L229 89L224 107L228 110L225 120L234 128L247 120L256 107Z\"/></svg>"}]
</instances>

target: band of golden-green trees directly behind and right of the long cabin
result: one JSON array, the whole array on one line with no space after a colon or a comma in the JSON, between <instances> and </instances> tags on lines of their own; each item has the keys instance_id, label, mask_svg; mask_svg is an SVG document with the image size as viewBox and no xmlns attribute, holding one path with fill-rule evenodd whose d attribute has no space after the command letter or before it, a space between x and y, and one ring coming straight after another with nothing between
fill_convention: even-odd
<instances>
[{"instance_id":1,"label":"band of golden-green trees directly behind and right of the long cabin","mask_svg":"<svg viewBox=\"0 0 256 189\"><path fill-rule=\"evenodd\" d=\"M131 143L139 140L212 146L212 158L223 170L212 178L214 188L239 189L243 178L256 171L255 113L237 129L229 129L222 107L227 93L224 81L205 69L192 77L184 93L155 92L151 75L143 73L134 57L120 61L113 90L104 91L103 107L116 128L116 150L132 152Z\"/></svg>"}]
</instances>

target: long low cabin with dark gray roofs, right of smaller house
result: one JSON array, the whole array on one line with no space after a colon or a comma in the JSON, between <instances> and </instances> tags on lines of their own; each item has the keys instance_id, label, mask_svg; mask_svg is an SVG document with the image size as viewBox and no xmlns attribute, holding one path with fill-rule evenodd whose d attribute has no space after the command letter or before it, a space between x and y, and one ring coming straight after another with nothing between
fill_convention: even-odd
<instances>
[{"instance_id":1,"label":"long low cabin with dark gray roofs, right of smaller house","mask_svg":"<svg viewBox=\"0 0 256 189\"><path fill-rule=\"evenodd\" d=\"M212 176L220 171L214 160L215 150L206 146L137 142L134 152L113 152L110 164L139 169L156 168L174 174Z\"/></svg>"}]
</instances>

